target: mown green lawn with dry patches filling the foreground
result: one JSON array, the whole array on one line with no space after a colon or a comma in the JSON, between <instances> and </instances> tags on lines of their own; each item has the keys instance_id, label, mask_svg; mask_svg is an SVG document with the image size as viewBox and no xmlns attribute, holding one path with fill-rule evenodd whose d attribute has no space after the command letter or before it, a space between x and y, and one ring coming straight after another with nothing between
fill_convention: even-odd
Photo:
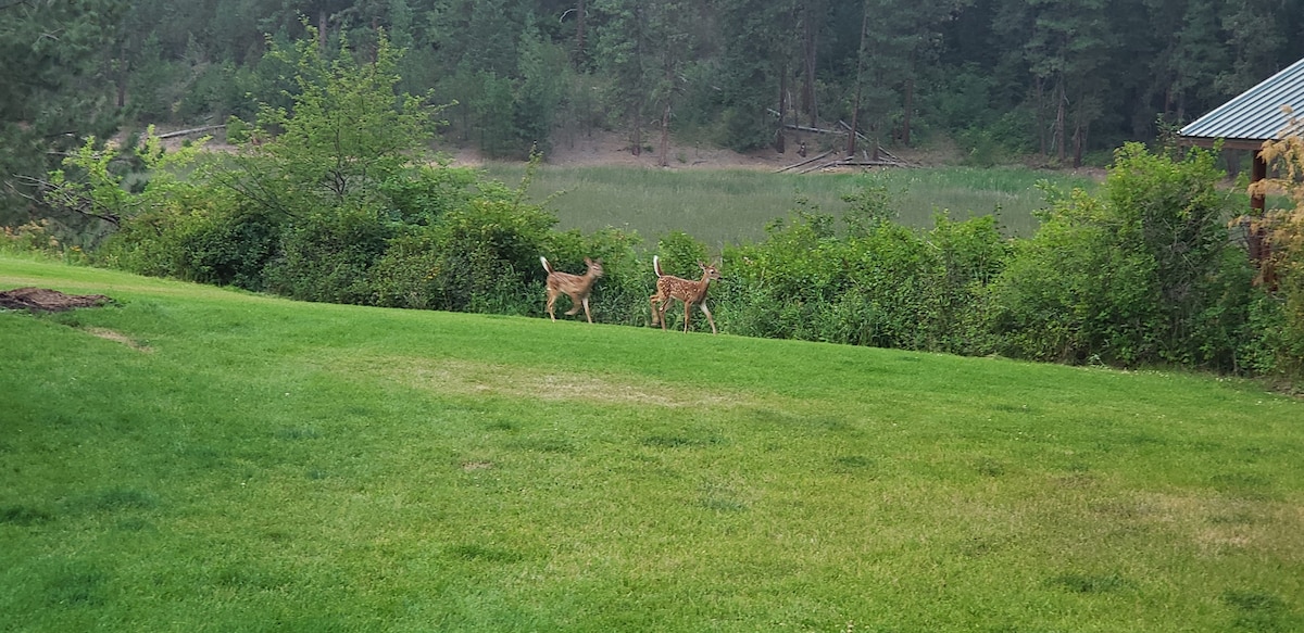
<instances>
[{"instance_id":1,"label":"mown green lawn with dry patches filling the foreground","mask_svg":"<svg viewBox=\"0 0 1304 633\"><path fill-rule=\"evenodd\" d=\"M1304 628L1254 383L21 285L117 303L0 313L0 630Z\"/></svg>"}]
</instances>

